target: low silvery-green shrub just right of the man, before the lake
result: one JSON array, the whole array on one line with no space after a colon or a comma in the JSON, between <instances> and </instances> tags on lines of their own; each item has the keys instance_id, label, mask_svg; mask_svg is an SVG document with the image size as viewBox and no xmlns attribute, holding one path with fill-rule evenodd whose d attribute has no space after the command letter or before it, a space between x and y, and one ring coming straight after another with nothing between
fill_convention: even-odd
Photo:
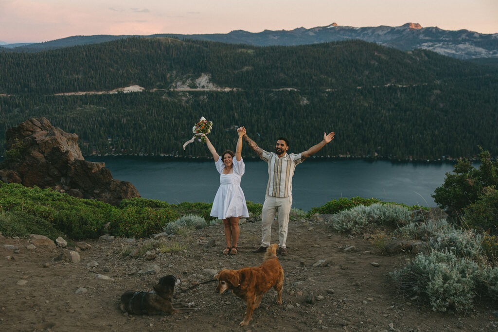
<instances>
[{"instance_id":1,"label":"low silvery-green shrub just right of the man, before the lake","mask_svg":"<svg viewBox=\"0 0 498 332\"><path fill-rule=\"evenodd\" d=\"M329 224L338 231L360 231L372 224L394 226L410 220L410 212L399 205L359 205L333 215Z\"/></svg>"}]
</instances>

